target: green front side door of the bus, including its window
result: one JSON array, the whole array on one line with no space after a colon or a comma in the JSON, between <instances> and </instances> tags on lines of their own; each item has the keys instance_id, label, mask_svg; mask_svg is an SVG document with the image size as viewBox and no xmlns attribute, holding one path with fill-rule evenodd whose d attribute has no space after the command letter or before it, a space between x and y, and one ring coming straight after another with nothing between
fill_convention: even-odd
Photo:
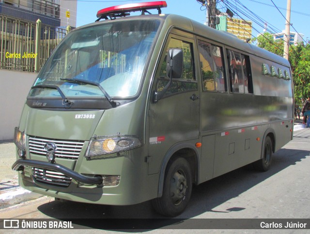
<instances>
[{"instance_id":1,"label":"green front side door of the bus, including its window","mask_svg":"<svg viewBox=\"0 0 310 234\"><path fill-rule=\"evenodd\" d=\"M194 70L193 44L180 37L169 38L169 48L183 51L183 72L172 79L170 88L157 103L151 102L149 119L148 174L159 173L164 156L172 147L199 138L200 93ZM155 74L153 93L162 90L169 82L166 71L167 54L163 55Z\"/></svg>"}]
</instances>

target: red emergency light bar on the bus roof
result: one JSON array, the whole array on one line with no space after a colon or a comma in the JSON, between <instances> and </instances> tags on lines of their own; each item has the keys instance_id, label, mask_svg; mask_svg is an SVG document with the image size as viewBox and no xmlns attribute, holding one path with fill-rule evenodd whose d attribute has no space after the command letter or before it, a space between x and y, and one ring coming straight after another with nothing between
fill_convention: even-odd
<instances>
[{"instance_id":1,"label":"red emergency light bar on the bus roof","mask_svg":"<svg viewBox=\"0 0 310 234\"><path fill-rule=\"evenodd\" d=\"M151 9L157 9L158 14L161 14L161 8L167 7L166 1L151 1L151 2L141 2L141 3L131 3L131 4L125 4L125 5L119 5L119 6L111 6L108 8L104 8L97 12L98 19L96 21L99 21L100 19L108 19L108 16L112 19L115 19L116 17L122 17L130 15L130 12L135 11L142 11L141 15L144 15L144 13L149 13L147 10Z\"/></svg>"}]
</instances>

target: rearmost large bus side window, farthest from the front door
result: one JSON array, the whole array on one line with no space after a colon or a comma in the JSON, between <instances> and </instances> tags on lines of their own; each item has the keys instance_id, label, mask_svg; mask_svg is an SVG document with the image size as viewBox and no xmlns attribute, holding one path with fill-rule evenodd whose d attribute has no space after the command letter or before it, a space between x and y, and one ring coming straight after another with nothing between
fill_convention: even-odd
<instances>
[{"instance_id":1,"label":"rearmost large bus side window, farthest from the front door","mask_svg":"<svg viewBox=\"0 0 310 234\"><path fill-rule=\"evenodd\" d=\"M230 90L234 93L253 93L249 57L226 50Z\"/></svg>"}]
</instances>

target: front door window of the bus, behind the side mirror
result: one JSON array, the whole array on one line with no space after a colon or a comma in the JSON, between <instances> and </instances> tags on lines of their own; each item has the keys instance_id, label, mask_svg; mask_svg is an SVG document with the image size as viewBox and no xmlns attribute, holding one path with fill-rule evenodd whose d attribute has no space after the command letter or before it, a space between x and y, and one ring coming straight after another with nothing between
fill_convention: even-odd
<instances>
[{"instance_id":1,"label":"front door window of the bus, behind the side mirror","mask_svg":"<svg viewBox=\"0 0 310 234\"><path fill-rule=\"evenodd\" d=\"M183 73L180 79L173 79L170 88L167 90L164 97L171 96L180 92L187 92L197 90L197 81L194 70L194 57L193 57L193 46L189 42L171 38L168 44L168 49L180 48L183 51ZM162 55L161 66L157 71L157 83L156 91L161 91L166 84L169 82L169 74L167 74L167 52Z\"/></svg>"}]
</instances>

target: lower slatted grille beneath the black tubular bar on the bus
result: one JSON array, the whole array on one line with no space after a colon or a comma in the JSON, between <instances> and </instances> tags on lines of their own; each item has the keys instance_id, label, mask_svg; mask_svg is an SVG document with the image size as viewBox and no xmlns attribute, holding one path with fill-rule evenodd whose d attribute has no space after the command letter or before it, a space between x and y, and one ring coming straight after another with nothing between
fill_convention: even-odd
<instances>
[{"instance_id":1,"label":"lower slatted grille beneath the black tubular bar on the bus","mask_svg":"<svg viewBox=\"0 0 310 234\"><path fill-rule=\"evenodd\" d=\"M32 174L37 182L48 185L69 187L72 178L60 172L32 167Z\"/></svg>"}]
</instances>

